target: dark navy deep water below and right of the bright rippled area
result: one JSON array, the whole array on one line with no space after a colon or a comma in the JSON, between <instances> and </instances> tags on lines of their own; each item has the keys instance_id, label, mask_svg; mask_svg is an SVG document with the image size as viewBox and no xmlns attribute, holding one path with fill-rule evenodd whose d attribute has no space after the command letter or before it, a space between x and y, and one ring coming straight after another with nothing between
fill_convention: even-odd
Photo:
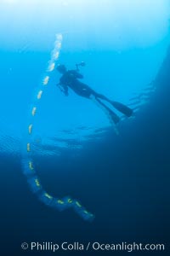
<instances>
[{"instance_id":1,"label":"dark navy deep water below and right of the bright rippled area","mask_svg":"<svg viewBox=\"0 0 170 256\"><path fill-rule=\"evenodd\" d=\"M66 192L79 195L96 212L94 223L83 222L72 211L60 213L43 206L28 190L20 170L20 157L1 155L3 248L8 244L9 252L20 253L21 241L146 241L168 244L169 63L170 56L167 55L167 61L157 76L157 91L150 104L141 109L136 119L127 121L122 127L122 136L112 140L111 131L108 131L98 150L87 150L82 160L71 162L71 166L68 161L71 170L68 179L60 177ZM65 155L63 160L68 159ZM68 167L55 163L53 159L43 161L44 164L50 161L51 166L54 163L55 168L61 171ZM81 173L74 176L79 168ZM52 177L47 174L42 175L46 187L45 179L48 178L48 183L51 183L48 189L62 190L59 180L53 180L54 174L51 173ZM70 178L74 178L74 188L69 187ZM19 185L16 187L16 184Z\"/></svg>"}]
</instances>

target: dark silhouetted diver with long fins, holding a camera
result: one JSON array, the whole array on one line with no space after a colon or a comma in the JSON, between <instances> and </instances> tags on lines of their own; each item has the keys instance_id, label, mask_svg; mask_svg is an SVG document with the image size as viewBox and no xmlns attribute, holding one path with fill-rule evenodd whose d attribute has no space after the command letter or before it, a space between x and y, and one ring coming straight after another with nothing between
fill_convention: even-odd
<instances>
[{"instance_id":1,"label":"dark silhouetted diver with long fins, holding a camera","mask_svg":"<svg viewBox=\"0 0 170 256\"><path fill-rule=\"evenodd\" d=\"M77 64L77 69L75 70L67 70L65 65L59 64L56 68L59 73L62 74L59 79L59 89L65 93L65 96L68 96L68 89L71 88L77 95L86 97L88 99L94 99L95 102L99 104L100 107L104 108L107 113L109 113L111 119L117 124L120 120L119 116L114 113L110 108L108 108L103 102L100 100L104 100L106 102L111 103L111 106L116 108L119 112L125 114L127 117L132 116L133 110L123 105L120 102L114 102L108 99L106 96L99 94L98 92L91 89L87 84L83 84L79 79L83 79L83 76L79 70L80 66L85 66L85 63L82 61Z\"/></svg>"}]
</instances>

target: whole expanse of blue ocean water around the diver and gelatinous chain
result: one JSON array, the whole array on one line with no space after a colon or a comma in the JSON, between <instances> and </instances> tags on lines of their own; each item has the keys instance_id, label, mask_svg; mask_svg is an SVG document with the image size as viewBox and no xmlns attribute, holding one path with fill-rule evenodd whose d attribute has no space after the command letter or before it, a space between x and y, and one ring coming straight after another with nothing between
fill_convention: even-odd
<instances>
[{"instance_id":1,"label":"whole expanse of blue ocean water around the diver and gelatinous chain","mask_svg":"<svg viewBox=\"0 0 170 256\"><path fill-rule=\"evenodd\" d=\"M30 253L21 251L23 241L168 247L168 1L4 0L0 14L3 255ZM65 97L56 87L59 73L50 73L34 121L32 159L43 189L80 201L94 214L92 223L38 201L23 175L30 111L56 34L63 38L56 64L72 69L85 61L86 84L135 110L117 135L94 102L71 90Z\"/></svg>"}]
</instances>

